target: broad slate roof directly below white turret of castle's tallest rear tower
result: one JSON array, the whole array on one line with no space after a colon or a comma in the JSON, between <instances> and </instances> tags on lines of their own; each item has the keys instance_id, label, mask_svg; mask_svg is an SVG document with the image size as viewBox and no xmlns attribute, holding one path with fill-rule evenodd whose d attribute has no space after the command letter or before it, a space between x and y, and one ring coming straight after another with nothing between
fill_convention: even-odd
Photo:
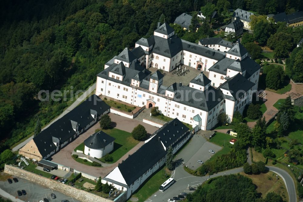
<instances>
[{"instance_id":1,"label":"broad slate roof directly below white turret of castle's tallest rear tower","mask_svg":"<svg viewBox=\"0 0 303 202\"><path fill-rule=\"evenodd\" d=\"M182 51L182 42L179 37L172 36L169 39L165 39L159 36L154 36L154 39L155 45L152 49L153 53L172 58Z\"/></svg>"}]
</instances>

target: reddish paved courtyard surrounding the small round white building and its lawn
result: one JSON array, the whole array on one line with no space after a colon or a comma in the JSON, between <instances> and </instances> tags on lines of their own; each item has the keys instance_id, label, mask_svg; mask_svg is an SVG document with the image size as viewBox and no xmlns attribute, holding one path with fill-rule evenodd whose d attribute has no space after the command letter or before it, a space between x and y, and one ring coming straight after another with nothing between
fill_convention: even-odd
<instances>
[{"instance_id":1,"label":"reddish paved courtyard surrounding the small round white building and its lawn","mask_svg":"<svg viewBox=\"0 0 303 202\"><path fill-rule=\"evenodd\" d=\"M115 128L120 130L125 130L127 132L132 132L133 128L137 126L138 124L141 124L145 127L147 133L154 133L158 128L151 126L147 123L143 123L139 120L135 119L129 119L124 116L119 116L116 114L109 113L109 116L111 117L112 121L116 123ZM79 144L83 143L83 141L88 138L90 135L95 133L96 129L99 129L100 125L97 122L95 125L93 125L91 128L89 128L85 133L81 134L77 139L75 139L73 142L69 143L67 146L65 146L63 149L61 149L58 153L52 156L52 161L55 163L59 163L62 165L65 165L67 167L74 168L76 170L79 170L83 173L90 174L95 177L105 177L109 172L111 172L116 166L118 166L118 163L121 163L122 160L125 160L128 157L128 154L132 154L135 151L137 151L144 142L138 143L134 148L132 148L128 153L126 153L120 160L118 160L116 163L107 164L102 163L103 167L92 167L87 166L82 163L78 163L72 158L72 152Z\"/></svg>"}]
</instances>

